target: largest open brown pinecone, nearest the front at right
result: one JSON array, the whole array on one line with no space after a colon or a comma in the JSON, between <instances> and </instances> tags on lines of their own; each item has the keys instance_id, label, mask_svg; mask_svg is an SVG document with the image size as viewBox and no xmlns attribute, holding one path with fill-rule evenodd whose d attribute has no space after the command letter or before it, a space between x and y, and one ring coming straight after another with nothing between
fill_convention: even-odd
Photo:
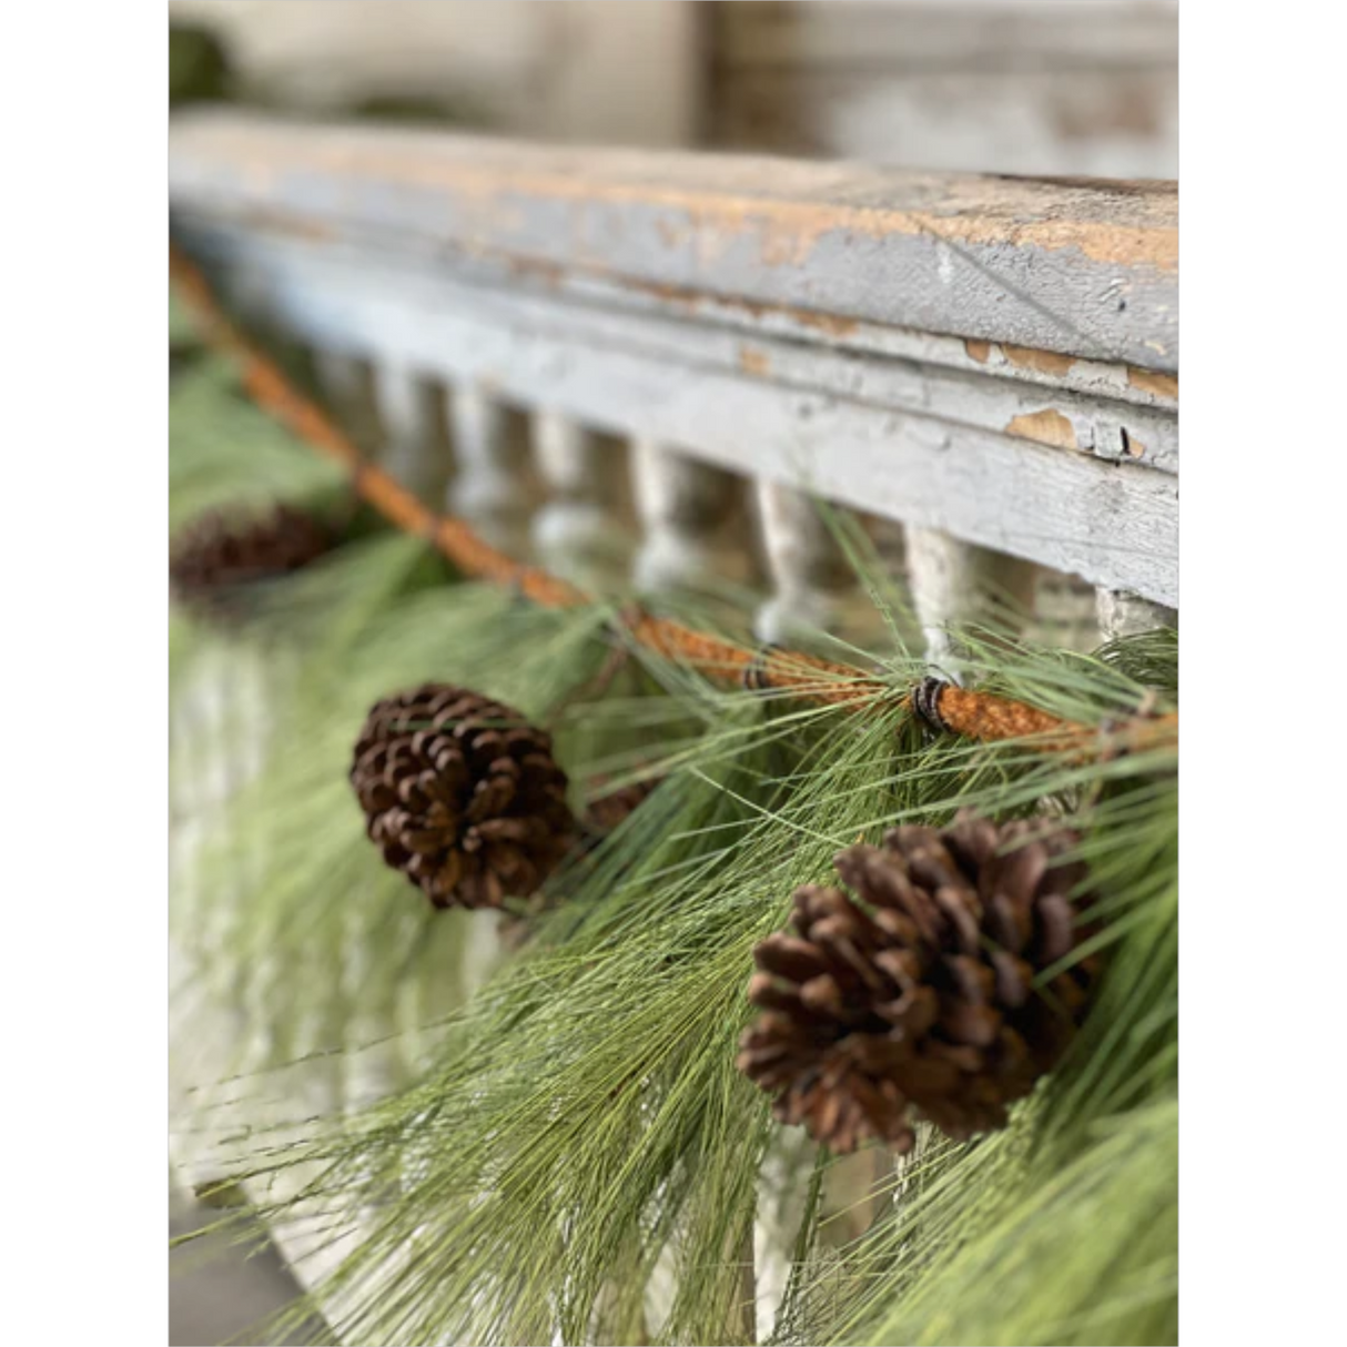
<instances>
[{"instance_id":1,"label":"largest open brown pinecone, nearest the front at right","mask_svg":"<svg viewBox=\"0 0 1347 1347\"><path fill-rule=\"evenodd\" d=\"M1008 1106L1060 1059L1096 966L1034 979L1082 938L1076 836L1043 822L900 827L835 858L855 897L806 885L792 931L754 951L762 1014L738 1067L781 1122L832 1150L877 1138L909 1150L924 1118L963 1140L1002 1127Z\"/></svg>"}]
</instances>

